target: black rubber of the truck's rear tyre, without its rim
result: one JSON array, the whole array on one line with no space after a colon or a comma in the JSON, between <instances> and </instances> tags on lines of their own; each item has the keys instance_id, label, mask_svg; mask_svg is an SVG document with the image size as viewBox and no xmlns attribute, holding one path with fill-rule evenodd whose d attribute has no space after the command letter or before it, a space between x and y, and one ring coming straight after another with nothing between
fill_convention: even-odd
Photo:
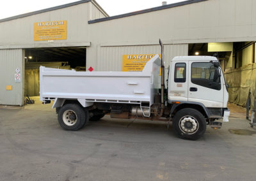
<instances>
[{"instance_id":1,"label":"black rubber of the truck's rear tyre, without its rim","mask_svg":"<svg viewBox=\"0 0 256 181\"><path fill-rule=\"evenodd\" d=\"M63 122L63 113L66 110L73 110L74 112L76 112L77 115L77 122L76 124L74 124L73 126L67 126L64 122ZM64 105L60 108L60 111L58 113L58 121L60 126L68 131L77 131L79 129L81 129L84 124L86 124L86 122L88 122L88 112L84 112L83 108L77 104L67 104Z\"/></svg>"}]
</instances>

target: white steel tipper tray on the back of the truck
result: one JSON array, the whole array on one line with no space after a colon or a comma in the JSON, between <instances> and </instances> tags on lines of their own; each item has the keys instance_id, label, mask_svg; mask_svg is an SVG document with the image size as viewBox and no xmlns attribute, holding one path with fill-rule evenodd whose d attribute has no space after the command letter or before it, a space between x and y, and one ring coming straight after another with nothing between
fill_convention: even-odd
<instances>
[{"instance_id":1,"label":"white steel tipper tray on the back of the truck","mask_svg":"<svg viewBox=\"0 0 256 181\"><path fill-rule=\"evenodd\" d=\"M159 89L160 59L156 55L142 72L77 72L40 67L40 100L45 98L154 102ZM95 100L95 101L97 101Z\"/></svg>"}]
</instances>

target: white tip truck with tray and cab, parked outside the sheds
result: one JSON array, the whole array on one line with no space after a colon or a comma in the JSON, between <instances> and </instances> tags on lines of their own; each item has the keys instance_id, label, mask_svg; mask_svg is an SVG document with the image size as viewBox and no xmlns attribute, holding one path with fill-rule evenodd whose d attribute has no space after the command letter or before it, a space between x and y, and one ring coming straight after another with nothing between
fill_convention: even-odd
<instances>
[{"instance_id":1,"label":"white tip truck with tray and cab, parked outside the sheds","mask_svg":"<svg viewBox=\"0 0 256 181\"><path fill-rule=\"evenodd\" d=\"M162 55L163 55L163 45ZM111 118L172 121L181 138L196 140L207 124L228 122L227 84L216 57L175 57L164 87L163 57L141 72L77 72L40 67L40 100L54 101L63 129L77 131L106 113ZM159 76L161 70L161 76Z\"/></svg>"}]
</instances>

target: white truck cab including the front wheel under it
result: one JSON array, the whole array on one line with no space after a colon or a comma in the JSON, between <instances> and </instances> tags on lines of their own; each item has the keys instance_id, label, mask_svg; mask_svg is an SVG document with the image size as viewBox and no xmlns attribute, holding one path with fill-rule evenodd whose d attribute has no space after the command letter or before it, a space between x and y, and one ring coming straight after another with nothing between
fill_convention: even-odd
<instances>
[{"instance_id":1,"label":"white truck cab including the front wheel under it","mask_svg":"<svg viewBox=\"0 0 256 181\"><path fill-rule=\"evenodd\" d=\"M221 122L216 120L223 118L223 122L228 122L227 101L227 83L216 57L186 56L175 57L171 61L168 103L172 107L170 117L173 117L173 126L180 136L190 138L200 124L205 127L198 119L206 120L206 124L215 129L220 128ZM175 120L179 112L187 119Z\"/></svg>"}]
</instances>

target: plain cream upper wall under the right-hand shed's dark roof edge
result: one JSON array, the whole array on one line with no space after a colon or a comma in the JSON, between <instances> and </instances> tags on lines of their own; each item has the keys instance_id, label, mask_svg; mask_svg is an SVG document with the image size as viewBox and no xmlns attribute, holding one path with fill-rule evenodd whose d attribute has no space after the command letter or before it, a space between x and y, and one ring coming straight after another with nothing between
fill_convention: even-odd
<instances>
[{"instance_id":1,"label":"plain cream upper wall under the right-hand shed's dark roof edge","mask_svg":"<svg viewBox=\"0 0 256 181\"><path fill-rule=\"evenodd\" d=\"M90 24L88 31L92 43L105 46L156 45L159 38L165 44L255 41L255 9L255 0L210 0Z\"/></svg>"}]
</instances>

